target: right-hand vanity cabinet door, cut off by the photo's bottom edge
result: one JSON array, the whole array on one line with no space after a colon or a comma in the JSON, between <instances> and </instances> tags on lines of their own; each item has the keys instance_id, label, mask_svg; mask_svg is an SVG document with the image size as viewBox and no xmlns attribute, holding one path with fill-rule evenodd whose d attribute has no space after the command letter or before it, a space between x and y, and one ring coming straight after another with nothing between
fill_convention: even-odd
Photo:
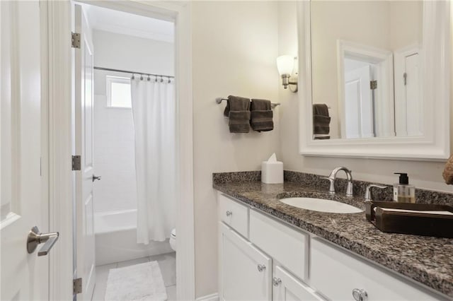
<instances>
[{"instance_id":1,"label":"right-hand vanity cabinet door, cut off by the photo's bottom edge","mask_svg":"<svg viewBox=\"0 0 453 301\"><path fill-rule=\"evenodd\" d=\"M275 266L273 286L273 300L275 301L323 300L314 293L312 288L280 266Z\"/></svg>"}]
</instances>

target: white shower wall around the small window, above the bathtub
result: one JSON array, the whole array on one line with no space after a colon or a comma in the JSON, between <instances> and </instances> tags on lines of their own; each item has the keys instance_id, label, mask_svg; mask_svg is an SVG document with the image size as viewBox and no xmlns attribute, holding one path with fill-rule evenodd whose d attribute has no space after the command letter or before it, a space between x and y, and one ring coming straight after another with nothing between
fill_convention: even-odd
<instances>
[{"instance_id":1,"label":"white shower wall around the small window, above the bathtub","mask_svg":"<svg viewBox=\"0 0 453 301\"><path fill-rule=\"evenodd\" d=\"M173 44L94 30L94 65L173 74ZM105 76L95 71L94 162L102 180L94 186L94 211L137 208L132 110L106 107Z\"/></svg>"}]
</instances>

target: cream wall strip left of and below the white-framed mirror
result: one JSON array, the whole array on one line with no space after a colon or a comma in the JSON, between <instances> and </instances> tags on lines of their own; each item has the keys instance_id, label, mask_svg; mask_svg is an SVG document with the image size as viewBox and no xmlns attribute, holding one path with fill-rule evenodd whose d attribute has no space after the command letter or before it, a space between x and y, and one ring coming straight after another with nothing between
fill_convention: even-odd
<instances>
[{"instance_id":1,"label":"cream wall strip left of and below the white-framed mirror","mask_svg":"<svg viewBox=\"0 0 453 301\"><path fill-rule=\"evenodd\" d=\"M294 51L297 47L296 4L292 1L279 3L279 51ZM453 81L452 81L453 85ZM453 93L452 93L453 94ZM408 172L411 184L418 188L453 192L445 184L442 170L445 162L375 160L353 158L316 158L299 155L298 100L297 93L279 90L281 154L285 169L328 175L334 167L344 165L352 170L354 179L371 182L397 182L394 172ZM308 100L309 101L309 100ZM442 131L442 129L439 129ZM343 177L343 175L339 175Z\"/></svg>"}]
</instances>

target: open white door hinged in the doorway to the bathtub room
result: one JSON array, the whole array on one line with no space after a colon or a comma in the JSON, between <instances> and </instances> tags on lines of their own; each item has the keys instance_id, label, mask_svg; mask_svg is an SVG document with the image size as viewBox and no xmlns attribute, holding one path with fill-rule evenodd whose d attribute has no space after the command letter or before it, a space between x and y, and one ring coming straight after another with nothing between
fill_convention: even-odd
<instances>
[{"instance_id":1,"label":"open white door hinged in the doorway to the bathtub room","mask_svg":"<svg viewBox=\"0 0 453 301\"><path fill-rule=\"evenodd\" d=\"M93 223L93 42L91 30L79 5L75 29L80 49L75 51L75 148L81 156L76 171L76 275L82 278L82 300L91 300L96 281Z\"/></svg>"}]
</instances>

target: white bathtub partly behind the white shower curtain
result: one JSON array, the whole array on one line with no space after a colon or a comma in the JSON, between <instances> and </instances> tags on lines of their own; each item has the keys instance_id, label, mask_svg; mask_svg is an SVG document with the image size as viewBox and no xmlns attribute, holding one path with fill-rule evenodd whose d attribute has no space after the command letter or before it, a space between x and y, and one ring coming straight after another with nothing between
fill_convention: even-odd
<instances>
[{"instance_id":1,"label":"white bathtub partly behind the white shower curtain","mask_svg":"<svg viewBox=\"0 0 453 301\"><path fill-rule=\"evenodd\" d=\"M137 244L137 210L95 213L96 265L173 252L168 240Z\"/></svg>"}]
</instances>

